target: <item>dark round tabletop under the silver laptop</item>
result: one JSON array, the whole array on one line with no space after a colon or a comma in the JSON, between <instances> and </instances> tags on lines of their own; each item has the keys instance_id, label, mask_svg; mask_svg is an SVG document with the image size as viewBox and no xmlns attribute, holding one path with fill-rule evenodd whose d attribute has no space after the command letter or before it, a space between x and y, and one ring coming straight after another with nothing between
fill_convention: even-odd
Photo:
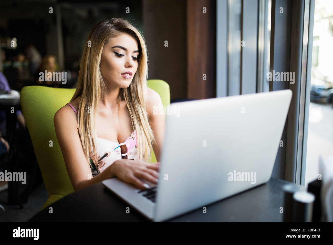
<instances>
[{"instance_id":1,"label":"dark round tabletop under the silver laptop","mask_svg":"<svg viewBox=\"0 0 333 245\"><path fill-rule=\"evenodd\" d=\"M171 222L282 222L285 184L277 178L226 199L172 218ZM299 190L304 186L295 185ZM166 204L167 205L167 204ZM49 207L53 213L49 213ZM145 222L149 221L99 182L74 192L46 207L29 222Z\"/></svg>"}]
</instances>

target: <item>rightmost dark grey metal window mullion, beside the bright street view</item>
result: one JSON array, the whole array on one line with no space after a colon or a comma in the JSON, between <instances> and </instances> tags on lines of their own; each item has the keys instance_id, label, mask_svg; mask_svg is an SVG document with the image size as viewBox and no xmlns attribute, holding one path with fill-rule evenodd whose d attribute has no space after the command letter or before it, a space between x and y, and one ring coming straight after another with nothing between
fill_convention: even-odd
<instances>
[{"instance_id":1,"label":"rightmost dark grey metal window mullion, beside the bright street view","mask_svg":"<svg viewBox=\"0 0 333 245\"><path fill-rule=\"evenodd\" d=\"M288 112L285 180L296 184L300 184L304 125L305 83L302 73L304 72L304 59L306 59L304 48L307 48L307 36L305 37L306 40L303 39L304 30L307 28L304 25L308 25L308 23L304 23L304 3L304 0L292 2L290 37L290 72L295 72L295 77L294 84L289 85L289 88L293 92L293 97Z\"/></svg>"}]
</instances>

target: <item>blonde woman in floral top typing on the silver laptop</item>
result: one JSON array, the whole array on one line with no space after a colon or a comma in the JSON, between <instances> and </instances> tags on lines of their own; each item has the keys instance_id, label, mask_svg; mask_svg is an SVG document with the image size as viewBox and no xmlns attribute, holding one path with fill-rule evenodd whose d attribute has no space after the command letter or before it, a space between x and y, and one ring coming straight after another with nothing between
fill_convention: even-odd
<instances>
[{"instance_id":1,"label":"blonde woman in floral top typing on the silver laptop","mask_svg":"<svg viewBox=\"0 0 333 245\"><path fill-rule=\"evenodd\" d=\"M54 116L74 190L117 176L141 189L157 184L165 115L147 88L148 59L141 33L123 18L89 33L76 92ZM151 149L158 163L148 163Z\"/></svg>"}]
</instances>

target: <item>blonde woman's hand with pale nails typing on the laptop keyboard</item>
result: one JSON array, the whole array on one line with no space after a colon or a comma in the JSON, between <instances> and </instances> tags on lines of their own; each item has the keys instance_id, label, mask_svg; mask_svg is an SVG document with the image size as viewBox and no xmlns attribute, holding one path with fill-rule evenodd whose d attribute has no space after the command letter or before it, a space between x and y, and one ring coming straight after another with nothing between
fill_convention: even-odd
<instances>
[{"instance_id":1,"label":"blonde woman's hand with pale nails typing on the laptop keyboard","mask_svg":"<svg viewBox=\"0 0 333 245\"><path fill-rule=\"evenodd\" d=\"M111 164L110 168L115 176L141 189L146 189L146 186L140 179L148 180L155 184L158 183L160 163L119 159Z\"/></svg>"}]
</instances>

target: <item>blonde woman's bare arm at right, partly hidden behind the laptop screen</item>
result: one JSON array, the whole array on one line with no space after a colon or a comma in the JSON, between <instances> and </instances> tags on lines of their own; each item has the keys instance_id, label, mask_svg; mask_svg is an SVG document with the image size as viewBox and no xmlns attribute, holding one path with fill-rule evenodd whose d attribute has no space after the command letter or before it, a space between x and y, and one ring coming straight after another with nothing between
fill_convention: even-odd
<instances>
[{"instance_id":1,"label":"blonde woman's bare arm at right, partly hidden behind the laptop screen","mask_svg":"<svg viewBox=\"0 0 333 245\"><path fill-rule=\"evenodd\" d=\"M147 88L147 113L150 119L150 126L154 132L156 139L156 144L153 146L156 160L161 161L161 151L164 142L165 136L165 115L164 113L155 113L154 112L163 112L159 108L163 108L162 100L160 95L153 89ZM154 110L155 109L155 110Z\"/></svg>"}]
</instances>

